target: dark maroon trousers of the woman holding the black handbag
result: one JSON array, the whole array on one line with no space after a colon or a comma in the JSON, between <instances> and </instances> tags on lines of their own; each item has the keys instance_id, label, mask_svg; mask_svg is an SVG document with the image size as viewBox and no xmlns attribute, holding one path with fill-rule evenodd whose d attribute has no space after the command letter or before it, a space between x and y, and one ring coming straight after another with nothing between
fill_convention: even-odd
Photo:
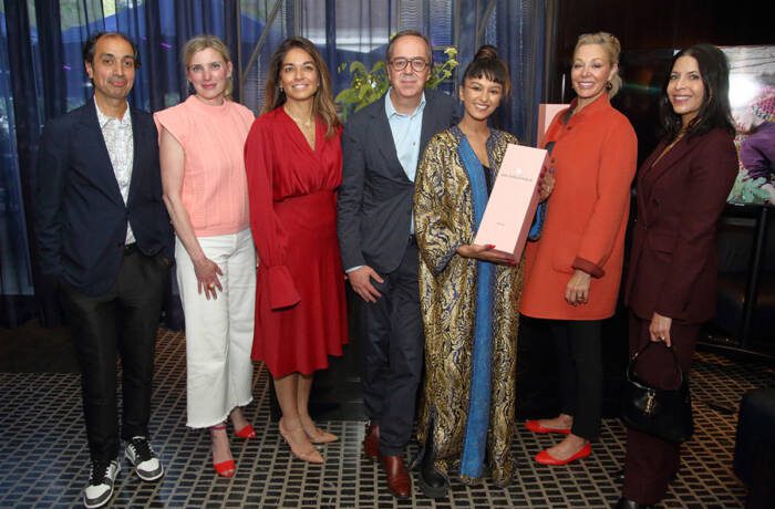
<instances>
[{"instance_id":1,"label":"dark maroon trousers of the woman holding the black handbag","mask_svg":"<svg viewBox=\"0 0 775 509\"><path fill-rule=\"evenodd\" d=\"M630 356L649 342L651 319L643 320L630 312ZM673 321L670 337L676 349L681 370L689 373L696 346L700 324ZM662 345L649 347L638 357L638 375L660 388L673 388L676 384L675 362ZM678 472L680 446L627 429L627 459L624 460L623 496L642 505L652 505L664 498L670 479Z\"/></svg>"}]
</instances>

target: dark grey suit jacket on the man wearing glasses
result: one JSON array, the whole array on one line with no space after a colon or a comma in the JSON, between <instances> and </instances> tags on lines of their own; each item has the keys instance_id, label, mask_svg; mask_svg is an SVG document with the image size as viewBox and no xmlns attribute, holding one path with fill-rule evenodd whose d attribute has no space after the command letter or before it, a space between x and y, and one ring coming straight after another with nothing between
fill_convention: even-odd
<instances>
[{"instance_id":1,"label":"dark grey suit jacket on the man wearing glasses","mask_svg":"<svg viewBox=\"0 0 775 509\"><path fill-rule=\"evenodd\" d=\"M431 137L459 122L450 95L425 90L420 158ZM352 115L342 135L344 167L338 230L342 266L394 271L406 250L414 183L401 167L385 114L384 95Z\"/></svg>"}]
</instances>

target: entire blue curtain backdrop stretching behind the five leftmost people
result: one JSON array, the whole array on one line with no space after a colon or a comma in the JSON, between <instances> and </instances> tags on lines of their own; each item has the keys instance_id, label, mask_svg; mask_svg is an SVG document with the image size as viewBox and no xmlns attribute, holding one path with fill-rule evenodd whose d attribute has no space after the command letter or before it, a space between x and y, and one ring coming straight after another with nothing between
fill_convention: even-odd
<instances>
[{"instance_id":1,"label":"entire blue curtain backdrop stretching behind the five leftmost people","mask_svg":"<svg viewBox=\"0 0 775 509\"><path fill-rule=\"evenodd\" d=\"M391 34L415 29L428 35L434 58L459 51L461 70L476 46L495 44L512 71L514 93L498 127L524 143L535 138L541 101L546 2L537 0L2 0L0 3L0 325L32 316L60 321L50 295L34 294L35 246L31 239L31 181L42 125L91 95L81 60L95 31L121 31L140 48L142 67L130 101L158 111L187 95L180 48L190 37L214 33L232 52L239 82L235 96L255 112L273 50L288 35L312 40L327 60L334 93L349 86L340 64L373 65ZM456 93L457 75L442 89ZM241 96L240 96L241 93ZM170 300L170 301L174 301ZM179 310L167 309L176 326Z\"/></svg>"}]
</instances>

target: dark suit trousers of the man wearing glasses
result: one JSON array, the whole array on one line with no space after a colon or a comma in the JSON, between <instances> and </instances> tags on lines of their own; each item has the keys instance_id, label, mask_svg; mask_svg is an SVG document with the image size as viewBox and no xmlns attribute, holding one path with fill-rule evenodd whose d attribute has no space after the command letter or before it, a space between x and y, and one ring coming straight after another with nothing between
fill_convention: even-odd
<instances>
[{"instance_id":1,"label":"dark suit trousers of the man wearing glasses","mask_svg":"<svg viewBox=\"0 0 775 509\"><path fill-rule=\"evenodd\" d=\"M410 241L399 268L372 281L382 297L361 301L363 403L380 425L380 453L397 456L412 436L423 368L423 332L417 283L417 245Z\"/></svg>"}]
</instances>

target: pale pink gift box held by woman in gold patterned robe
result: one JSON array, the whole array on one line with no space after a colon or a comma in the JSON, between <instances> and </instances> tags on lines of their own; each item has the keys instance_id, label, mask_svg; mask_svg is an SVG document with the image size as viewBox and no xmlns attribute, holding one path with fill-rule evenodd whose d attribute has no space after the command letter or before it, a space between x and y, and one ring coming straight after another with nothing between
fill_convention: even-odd
<instances>
[{"instance_id":1,"label":"pale pink gift box held by woman in gold patterned robe","mask_svg":"<svg viewBox=\"0 0 775 509\"><path fill-rule=\"evenodd\" d=\"M538 183L547 152L508 145L474 243L519 260L538 206Z\"/></svg>"}]
</instances>

